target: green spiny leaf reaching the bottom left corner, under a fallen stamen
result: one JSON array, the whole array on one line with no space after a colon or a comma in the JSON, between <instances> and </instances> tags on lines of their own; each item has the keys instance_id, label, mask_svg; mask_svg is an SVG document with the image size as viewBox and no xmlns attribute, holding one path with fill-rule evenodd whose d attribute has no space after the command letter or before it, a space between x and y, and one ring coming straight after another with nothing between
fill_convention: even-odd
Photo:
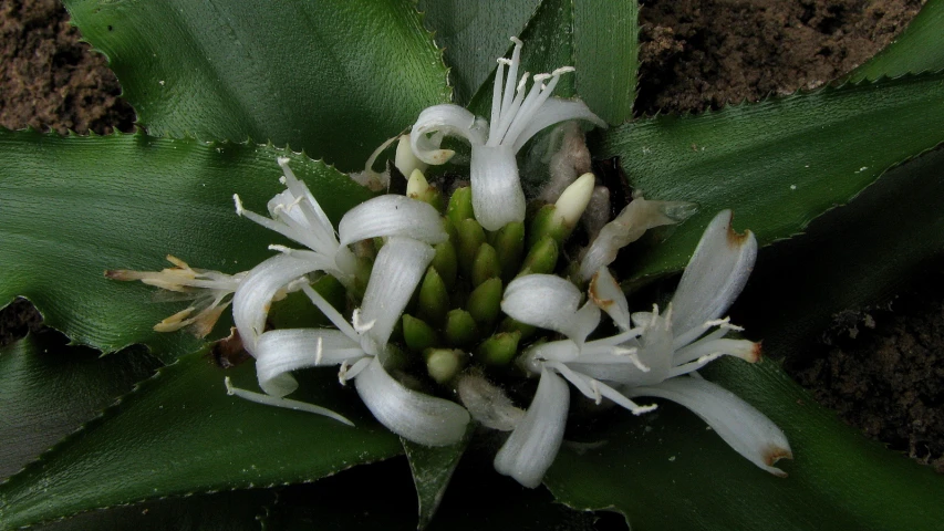
<instances>
[{"instance_id":1,"label":"green spiny leaf reaching the bottom left corner, under a fallen stamen","mask_svg":"<svg viewBox=\"0 0 944 531\"><path fill-rule=\"evenodd\" d=\"M310 377L293 398L334 409L356 427L227 395L224 376L246 388L253 369L225 372L207 350L180 357L0 486L0 527L166 496L312 481L402 451L333 371L301 375Z\"/></svg>"}]
</instances>

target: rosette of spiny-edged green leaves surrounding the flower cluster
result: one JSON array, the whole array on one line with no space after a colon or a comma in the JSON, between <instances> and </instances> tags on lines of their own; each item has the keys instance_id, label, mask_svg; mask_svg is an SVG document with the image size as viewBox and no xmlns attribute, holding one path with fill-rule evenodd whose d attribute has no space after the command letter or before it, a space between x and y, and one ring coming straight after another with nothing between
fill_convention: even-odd
<instances>
[{"instance_id":1,"label":"rosette of spiny-edged green leaves surrounding the flower cluster","mask_svg":"<svg viewBox=\"0 0 944 531\"><path fill-rule=\"evenodd\" d=\"M941 256L944 1L929 0L894 44L823 88L644 117L632 115L633 1L65 3L108 58L141 131L0 131L0 303L25 296L64 334L0 352L0 528L408 529L417 500L421 527L453 529L590 528L581 511L602 509L633 529L944 521L944 478L842 425L777 362L833 312L881 300ZM595 158L619 157L647 198L701 207L619 264L626 289L681 271L724 208L769 246L735 309L768 360L718 362L706 376L784 428L789 478L759 472L664 405L569 434L547 490L527 490L479 466L490 441L404 445L334 385L303 386L302 398L356 429L227 396L222 376L250 382L251 363L210 343L219 336L153 332L166 306L102 277L154 269L168 252L229 272L246 269L231 257L257 263L271 237L239 222L229 197L268 199L274 185L260 176L277 156L332 198L336 222L370 197L345 173L422 108L454 101L481 114L494 58L514 34L529 44L527 70L577 67L558 93L611 124L591 136ZM304 319L315 316L272 315L276 325Z\"/></svg>"}]
</instances>

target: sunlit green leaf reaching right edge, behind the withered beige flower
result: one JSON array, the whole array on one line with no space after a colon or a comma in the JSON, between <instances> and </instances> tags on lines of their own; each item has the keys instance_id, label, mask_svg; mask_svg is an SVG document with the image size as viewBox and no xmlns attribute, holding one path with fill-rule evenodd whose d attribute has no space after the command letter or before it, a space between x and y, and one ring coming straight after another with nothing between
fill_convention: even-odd
<instances>
[{"instance_id":1,"label":"sunlit green leaf reaching right edge, behind the withered beige flower","mask_svg":"<svg viewBox=\"0 0 944 531\"><path fill-rule=\"evenodd\" d=\"M761 244L789 238L848 202L889 167L944 140L944 74L824 88L699 116L657 116L604 132L650 199L698 204L664 243L624 263L633 279L684 268L717 211Z\"/></svg>"}]
</instances>

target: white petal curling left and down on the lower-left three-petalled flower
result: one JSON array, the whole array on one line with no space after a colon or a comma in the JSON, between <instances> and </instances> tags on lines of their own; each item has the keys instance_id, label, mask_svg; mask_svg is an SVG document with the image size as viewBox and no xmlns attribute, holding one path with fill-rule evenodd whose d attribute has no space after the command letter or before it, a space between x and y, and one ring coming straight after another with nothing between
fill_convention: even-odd
<instances>
[{"instance_id":1,"label":"white petal curling left and down on the lower-left three-petalled flower","mask_svg":"<svg viewBox=\"0 0 944 531\"><path fill-rule=\"evenodd\" d=\"M299 368L339 365L363 357L361 345L330 329L287 329L266 332L256 343L259 387L272 396L294 391L281 376Z\"/></svg>"}]
</instances>

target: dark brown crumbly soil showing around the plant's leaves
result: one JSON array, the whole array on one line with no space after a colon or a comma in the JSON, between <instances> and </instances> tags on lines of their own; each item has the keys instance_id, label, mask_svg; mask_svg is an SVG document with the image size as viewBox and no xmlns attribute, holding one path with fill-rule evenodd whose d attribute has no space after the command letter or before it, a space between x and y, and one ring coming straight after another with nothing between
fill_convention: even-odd
<instances>
[{"instance_id":1,"label":"dark brown crumbly soil showing around the plant's leaves","mask_svg":"<svg viewBox=\"0 0 944 531\"><path fill-rule=\"evenodd\" d=\"M650 2L641 12L636 112L702 112L820 86L888 44L922 3ZM0 126L129 131L134 112L117 97L115 76L66 20L53 0L0 0ZM0 312L0 344L39 325L29 309L17 302ZM941 470L944 288L903 296L892 311L849 315L819 355L788 367L848 423Z\"/></svg>"}]
</instances>

